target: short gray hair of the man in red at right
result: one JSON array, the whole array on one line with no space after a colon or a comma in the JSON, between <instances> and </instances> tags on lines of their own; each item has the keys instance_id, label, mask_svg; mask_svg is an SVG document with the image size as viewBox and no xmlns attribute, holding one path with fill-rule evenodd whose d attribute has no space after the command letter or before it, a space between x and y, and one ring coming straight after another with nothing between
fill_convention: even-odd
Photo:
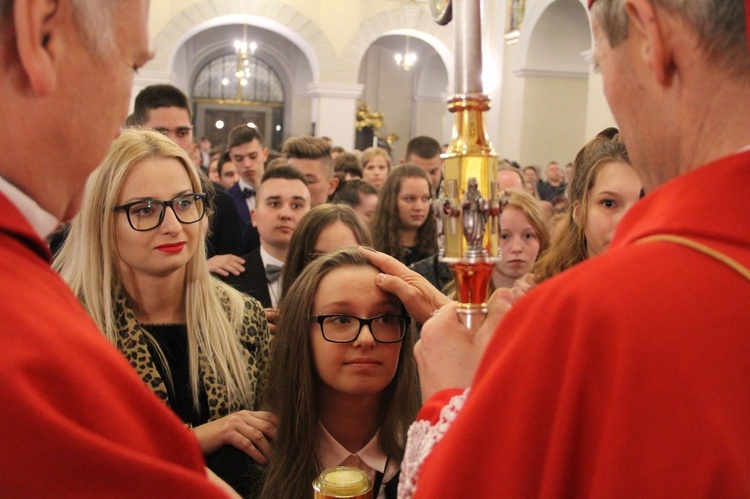
<instances>
[{"instance_id":1,"label":"short gray hair of the man in red at right","mask_svg":"<svg viewBox=\"0 0 750 499\"><path fill-rule=\"evenodd\" d=\"M700 48L723 69L741 75L750 70L744 0L651 0L679 16L698 35ZM598 0L591 8L612 47L628 36L624 0Z\"/></svg>"}]
</instances>

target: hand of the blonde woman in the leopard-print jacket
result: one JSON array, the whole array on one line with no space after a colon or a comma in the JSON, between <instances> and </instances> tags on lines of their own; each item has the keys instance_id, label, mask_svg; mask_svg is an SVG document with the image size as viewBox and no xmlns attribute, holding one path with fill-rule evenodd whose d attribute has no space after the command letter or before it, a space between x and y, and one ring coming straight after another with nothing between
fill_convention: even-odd
<instances>
[{"instance_id":1,"label":"hand of the blonde woman in the leopard-print jacket","mask_svg":"<svg viewBox=\"0 0 750 499\"><path fill-rule=\"evenodd\" d=\"M193 428L204 455L211 455L223 445L245 452L259 464L268 464L270 441L276 437L278 421L266 411L237 411L221 419Z\"/></svg>"}]
</instances>

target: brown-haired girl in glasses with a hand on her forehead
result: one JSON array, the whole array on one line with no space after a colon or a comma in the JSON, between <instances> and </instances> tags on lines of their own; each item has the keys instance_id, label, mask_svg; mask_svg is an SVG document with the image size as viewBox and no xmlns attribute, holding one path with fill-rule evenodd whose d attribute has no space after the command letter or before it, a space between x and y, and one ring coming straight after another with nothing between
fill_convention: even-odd
<instances>
[{"instance_id":1,"label":"brown-haired girl in glasses with a hand on her forehead","mask_svg":"<svg viewBox=\"0 0 750 499\"><path fill-rule=\"evenodd\" d=\"M324 469L355 466L396 497L418 408L413 328L353 248L310 263L281 304L267 396L279 420L264 498L307 498Z\"/></svg>"}]
</instances>

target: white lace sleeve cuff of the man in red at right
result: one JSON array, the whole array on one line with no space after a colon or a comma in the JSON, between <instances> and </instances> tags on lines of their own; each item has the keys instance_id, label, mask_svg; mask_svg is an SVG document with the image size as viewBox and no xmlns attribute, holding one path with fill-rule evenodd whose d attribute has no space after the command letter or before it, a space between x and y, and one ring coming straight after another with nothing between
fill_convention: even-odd
<instances>
[{"instance_id":1,"label":"white lace sleeve cuff of the man in red at right","mask_svg":"<svg viewBox=\"0 0 750 499\"><path fill-rule=\"evenodd\" d=\"M430 455L435 444L443 439L443 435L451 427L458 413L461 412L466 397L469 395L469 390L467 388L460 395L451 398L450 402L440 411L440 418L434 426L429 421L416 421L409 427L404 459L401 461L401 476L398 484L399 499L408 499L416 492L419 473L422 471L425 459Z\"/></svg>"}]
</instances>

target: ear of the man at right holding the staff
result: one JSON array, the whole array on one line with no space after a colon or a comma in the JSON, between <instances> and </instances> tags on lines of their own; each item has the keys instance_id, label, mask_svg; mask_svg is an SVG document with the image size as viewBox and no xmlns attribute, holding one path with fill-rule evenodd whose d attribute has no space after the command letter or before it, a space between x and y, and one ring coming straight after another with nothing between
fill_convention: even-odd
<instances>
[{"instance_id":1,"label":"ear of the man at right holding the staff","mask_svg":"<svg viewBox=\"0 0 750 499\"><path fill-rule=\"evenodd\" d=\"M675 74L675 61L671 45L671 25L663 11L657 10L650 0L629 0L625 3L628 29L638 37L641 57L651 69L656 81L669 86ZM628 35L630 36L630 34Z\"/></svg>"}]
</instances>

